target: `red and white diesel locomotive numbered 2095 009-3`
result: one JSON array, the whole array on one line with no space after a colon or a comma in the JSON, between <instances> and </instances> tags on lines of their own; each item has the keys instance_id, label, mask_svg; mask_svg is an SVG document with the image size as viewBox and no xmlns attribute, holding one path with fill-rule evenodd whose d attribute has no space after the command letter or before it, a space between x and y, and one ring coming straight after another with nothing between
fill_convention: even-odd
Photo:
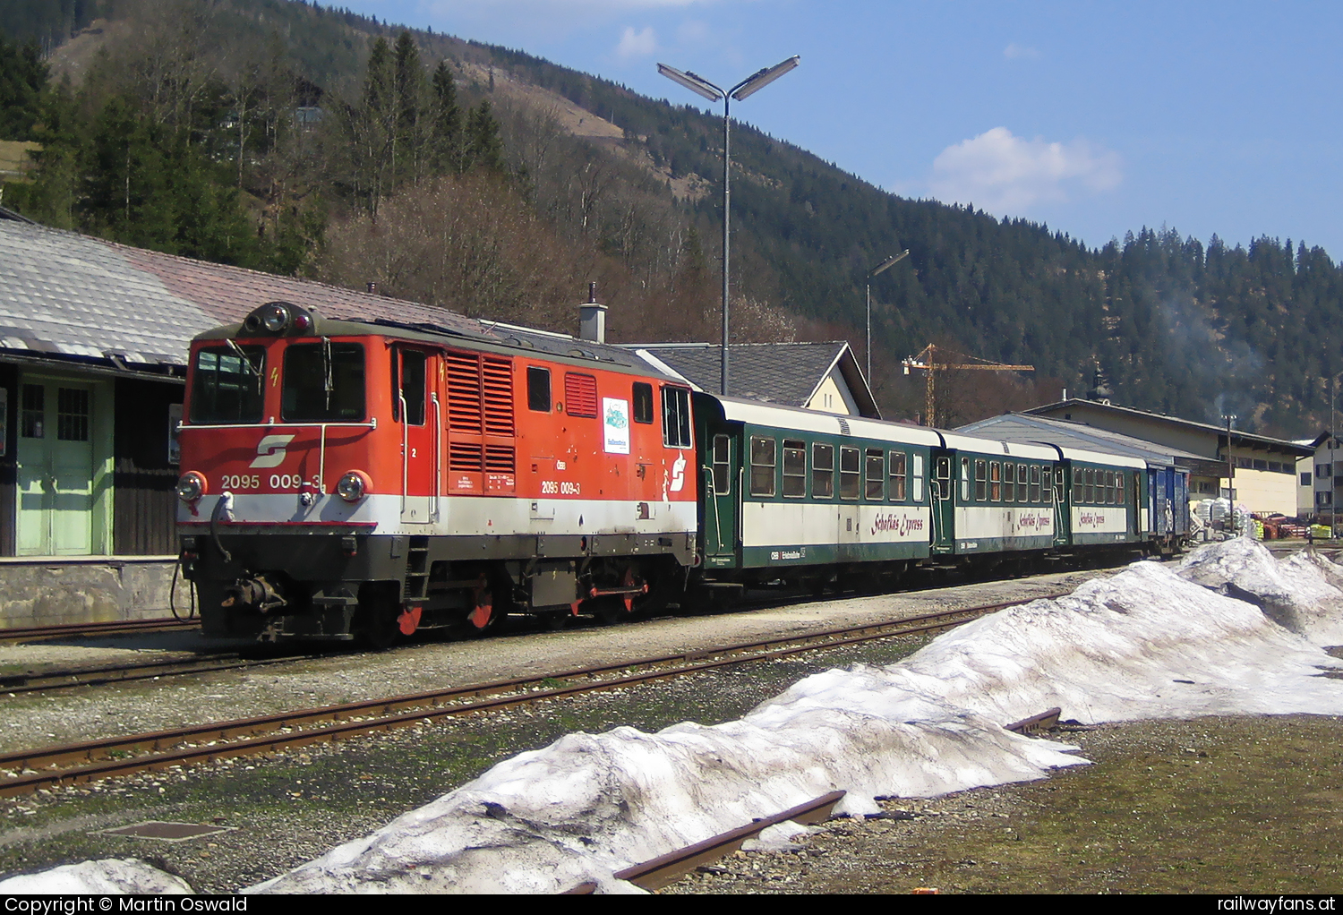
<instances>
[{"instance_id":1,"label":"red and white diesel locomotive numbered 2095 009-3","mask_svg":"<svg viewBox=\"0 0 1343 915\"><path fill-rule=\"evenodd\" d=\"M619 615L694 562L690 390L622 349L270 302L196 337L187 384L177 517L207 634Z\"/></svg>"}]
</instances>

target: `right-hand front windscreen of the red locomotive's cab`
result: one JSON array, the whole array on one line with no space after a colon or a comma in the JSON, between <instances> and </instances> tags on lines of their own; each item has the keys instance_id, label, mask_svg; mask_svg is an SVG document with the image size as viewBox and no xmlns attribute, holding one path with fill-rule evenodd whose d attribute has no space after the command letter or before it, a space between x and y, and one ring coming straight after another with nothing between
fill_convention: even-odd
<instances>
[{"instance_id":1,"label":"right-hand front windscreen of the red locomotive's cab","mask_svg":"<svg viewBox=\"0 0 1343 915\"><path fill-rule=\"evenodd\" d=\"M279 415L289 422L364 418L364 344L291 343L285 349Z\"/></svg>"}]
</instances>

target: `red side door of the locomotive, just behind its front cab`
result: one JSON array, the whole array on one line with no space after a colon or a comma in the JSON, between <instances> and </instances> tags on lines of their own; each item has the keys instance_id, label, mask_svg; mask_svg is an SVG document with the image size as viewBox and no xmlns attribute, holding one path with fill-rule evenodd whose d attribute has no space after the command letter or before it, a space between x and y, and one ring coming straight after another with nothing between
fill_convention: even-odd
<instances>
[{"instance_id":1,"label":"red side door of the locomotive, just behind its front cab","mask_svg":"<svg viewBox=\"0 0 1343 915\"><path fill-rule=\"evenodd\" d=\"M402 523L428 524L438 513L439 438L443 422L436 391L436 356L392 348L392 417L402 434Z\"/></svg>"}]
</instances>

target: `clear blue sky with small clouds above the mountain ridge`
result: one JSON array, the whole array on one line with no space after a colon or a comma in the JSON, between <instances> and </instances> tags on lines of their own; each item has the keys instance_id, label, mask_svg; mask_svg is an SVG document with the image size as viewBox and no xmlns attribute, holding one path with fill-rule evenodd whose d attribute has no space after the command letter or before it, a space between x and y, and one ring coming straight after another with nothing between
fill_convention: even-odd
<instances>
[{"instance_id":1,"label":"clear blue sky with small clouds above the mountain ridge","mask_svg":"<svg viewBox=\"0 0 1343 915\"><path fill-rule=\"evenodd\" d=\"M663 62L731 85L767 133L904 196L1343 257L1343 5L888 0L342 0L674 102ZM721 105L714 109L721 113Z\"/></svg>"}]
</instances>

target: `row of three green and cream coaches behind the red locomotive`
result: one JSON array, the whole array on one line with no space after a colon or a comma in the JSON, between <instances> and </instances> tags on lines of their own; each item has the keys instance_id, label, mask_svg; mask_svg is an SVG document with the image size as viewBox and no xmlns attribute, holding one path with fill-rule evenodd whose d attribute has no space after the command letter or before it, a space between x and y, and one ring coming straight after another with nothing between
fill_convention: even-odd
<instances>
[{"instance_id":1,"label":"row of three green and cream coaches behind the red locomotive","mask_svg":"<svg viewBox=\"0 0 1343 915\"><path fill-rule=\"evenodd\" d=\"M694 398L709 579L819 583L1150 537L1138 458Z\"/></svg>"}]
</instances>

